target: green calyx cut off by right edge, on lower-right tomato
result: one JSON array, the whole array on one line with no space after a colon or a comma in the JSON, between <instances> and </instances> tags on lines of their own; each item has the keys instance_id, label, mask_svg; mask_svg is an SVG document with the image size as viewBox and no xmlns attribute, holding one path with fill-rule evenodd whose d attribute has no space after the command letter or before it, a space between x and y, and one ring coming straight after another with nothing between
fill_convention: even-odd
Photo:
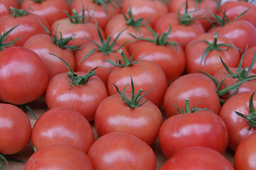
<instances>
[{"instance_id":1,"label":"green calyx cut off by right edge, on lower-right tomato","mask_svg":"<svg viewBox=\"0 0 256 170\"><path fill-rule=\"evenodd\" d=\"M239 115L242 118L245 118L245 120L247 120L249 128L248 130L251 130L252 127L256 128L256 112L255 112L255 108L253 106L253 96L254 96L255 92L252 93L252 95L250 96L250 100L249 100L249 115L243 115L242 113L239 113L238 111L235 111L235 113L237 115Z\"/></svg>"}]
</instances>

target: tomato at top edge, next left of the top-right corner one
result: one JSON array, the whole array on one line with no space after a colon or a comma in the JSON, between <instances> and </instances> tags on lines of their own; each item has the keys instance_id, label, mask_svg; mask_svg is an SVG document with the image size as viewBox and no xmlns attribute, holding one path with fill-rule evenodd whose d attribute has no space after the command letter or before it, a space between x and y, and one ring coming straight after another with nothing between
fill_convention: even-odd
<instances>
[{"instance_id":1,"label":"tomato at top edge, next left of the top-right corner one","mask_svg":"<svg viewBox=\"0 0 256 170\"><path fill-rule=\"evenodd\" d=\"M171 0L169 2L169 11L184 13L186 11L185 4L187 0ZM181 8L181 9L180 9ZM208 20L212 20L213 17L210 13L218 13L218 4L215 0L188 0L188 11L191 12L193 17L199 17L203 27L208 30L212 25Z\"/></svg>"}]
</instances>

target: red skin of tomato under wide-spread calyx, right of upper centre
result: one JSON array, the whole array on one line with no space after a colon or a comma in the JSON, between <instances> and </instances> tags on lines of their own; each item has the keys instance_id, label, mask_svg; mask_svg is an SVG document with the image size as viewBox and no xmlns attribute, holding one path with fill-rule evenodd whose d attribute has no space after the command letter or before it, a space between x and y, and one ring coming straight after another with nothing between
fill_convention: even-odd
<instances>
[{"instance_id":1,"label":"red skin of tomato under wide-spread calyx, right of upper centre","mask_svg":"<svg viewBox=\"0 0 256 170\"><path fill-rule=\"evenodd\" d=\"M176 42L173 39L168 42ZM129 47L129 54L133 55L132 60L142 58L158 64L166 75L167 84L183 74L186 66L186 58L180 45L156 45L148 41L137 41Z\"/></svg>"}]
</instances>

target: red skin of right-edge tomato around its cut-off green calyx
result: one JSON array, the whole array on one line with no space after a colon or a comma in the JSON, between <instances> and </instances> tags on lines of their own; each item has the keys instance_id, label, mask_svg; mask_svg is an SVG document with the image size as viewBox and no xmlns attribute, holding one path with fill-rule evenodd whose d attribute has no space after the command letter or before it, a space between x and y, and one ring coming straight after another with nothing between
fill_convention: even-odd
<instances>
[{"instance_id":1,"label":"red skin of right-edge tomato around its cut-off green calyx","mask_svg":"<svg viewBox=\"0 0 256 170\"><path fill-rule=\"evenodd\" d=\"M224 120L228 128L228 147L235 151L239 143L245 137L256 132L256 128L248 130L249 125L247 121L237 115L238 111L244 115L249 115L249 99L252 91L246 91L229 98L220 110L220 117ZM253 105L256 106L256 98L253 98Z\"/></svg>"}]
</instances>

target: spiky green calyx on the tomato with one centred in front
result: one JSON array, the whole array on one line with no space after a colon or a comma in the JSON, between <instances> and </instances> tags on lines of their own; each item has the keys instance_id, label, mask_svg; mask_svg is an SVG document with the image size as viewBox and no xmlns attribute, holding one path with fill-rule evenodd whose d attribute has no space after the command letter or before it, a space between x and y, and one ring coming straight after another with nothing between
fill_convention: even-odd
<instances>
[{"instance_id":1,"label":"spiky green calyx on the tomato with one centred in front","mask_svg":"<svg viewBox=\"0 0 256 170\"><path fill-rule=\"evenodd\" d=\"M114 85L114 84L113 84L113 85ZM124 89L123 89L122 93L119 91L119 89L118 89L118 87L117 87L116 85L114 85L114 87L117 89L117 93L122 96L122 101L123 101L127 106L129 106L130 108L137 108L137 107L139 107L139 106L142 106L144 103L146 103L146 101L149 100L149 97L146 98L146 101L144 101L144 102L142 102L142 103L139 103L139 101L141 101L142 98L144 98L144 96L145 96L146 94L148 94L149 92L150 92L150 94L151 94L152 91L154 90L154 88L152 88L151 90L146 91L144 94L142 94L142 91L143 91L143 90L142 90L142 89L139 89L139 91L137 92L137 94L135 94L135 92L134 92L134 82L133 82L133 80L132 80L132 76L131 76L131 88L132 88L132 98L131 98L131 100L129 100L129 98L127 98L127 97L125 96L125 94L124 94L124 93L125 93L125 89L126 89L126 87L127 87L127 84L124 86ZM141 94L142 94L142 96L141 96ZM150 94L149 94L149 96L150 96Z\"/></svg>"}]
</instances>

